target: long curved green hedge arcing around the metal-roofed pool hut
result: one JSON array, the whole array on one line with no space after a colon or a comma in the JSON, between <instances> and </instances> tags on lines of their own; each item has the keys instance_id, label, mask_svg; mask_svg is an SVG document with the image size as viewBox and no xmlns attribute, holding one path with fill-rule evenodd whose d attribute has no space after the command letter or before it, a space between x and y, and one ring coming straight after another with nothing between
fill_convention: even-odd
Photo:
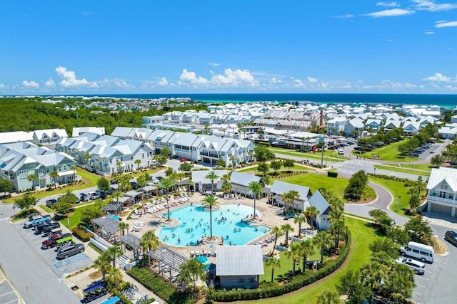
<instances>
[{"instance_id":1,"label":"long curved green hedge arcing around the metal-roofed pool hut","mask_svg":"<svg viewBox=\"0 0 457 304\"><path fill-rule=\"evenodd\" d=\"M313 273L305 273L301 276L296 276L291 282L283 285L260 288L260 289L246 289L246 290L217 290L215 293L211 293L211 299L219 302L232 302L239 300L258 300L262 298L271 298L291 293L294 290L298 290L306 285L314 283L321 278L328 276L329 274L336 271L343 263L349 254L351 247L351 233L348 232L348 245L341 251L341 254L335 260L328 261L324 264L323 268Z\"/></svg>"}]
</instances>

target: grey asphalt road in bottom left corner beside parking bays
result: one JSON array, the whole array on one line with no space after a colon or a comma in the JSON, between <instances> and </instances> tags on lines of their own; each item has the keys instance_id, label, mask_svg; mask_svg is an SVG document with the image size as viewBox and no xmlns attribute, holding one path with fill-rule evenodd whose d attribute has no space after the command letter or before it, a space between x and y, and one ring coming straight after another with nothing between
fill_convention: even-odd
<instances>
[{"instance_id":1,"label":"grey asphalt road in bottom left corner beside parking bays","mask_svg":"<svg viewBox=\"0 0 457 304\"><path fill-rule=\"evenodd\" d=\"M32 244L9 224L11 214L10 204L0 204L0 263L25 302L80 303L61 277L31 248Z\"/></svg>"}]
</instances>

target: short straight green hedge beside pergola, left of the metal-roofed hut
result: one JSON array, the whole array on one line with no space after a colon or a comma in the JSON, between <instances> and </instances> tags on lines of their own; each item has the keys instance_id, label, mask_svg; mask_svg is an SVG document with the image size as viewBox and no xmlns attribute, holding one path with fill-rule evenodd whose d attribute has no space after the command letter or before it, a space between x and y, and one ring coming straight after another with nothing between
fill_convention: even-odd
<instances>
[{"instance_id":1,"label":"short straight green hedge beside pergola, left of the metal-roofed hut","mask_svg":"<svg viewBox=\"0 0 457 304\"><path fill-rule=\"evenodd\" d=\"M135 266L127 271L127 274L134 278L136 281L139 281L141 285L148 288L156 295L159 295L160 298L163 298L166 303L169 304L191 304L195 303L194 300L189 298L187 293L184 293L180 290L176 290L172 285L162 281L161 278L154 276L154 273L151 273L146 268L139 268Z\"/></svg>"}]
</instances>

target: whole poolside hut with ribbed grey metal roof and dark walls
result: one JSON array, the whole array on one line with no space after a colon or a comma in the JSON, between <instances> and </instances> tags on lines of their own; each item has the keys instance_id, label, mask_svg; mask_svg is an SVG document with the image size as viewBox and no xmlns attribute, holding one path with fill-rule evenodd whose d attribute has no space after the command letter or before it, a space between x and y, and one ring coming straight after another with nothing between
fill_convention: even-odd
<instances>
[{"instance_id":1,"label":"whole poolside hut with ribbed grey metal roof and dark walls","mask_svg":"<svg viewBox=\"0 0 457 304\"><path fill-rule=\"evenodd\" d=\"M216 246L216 251L216 278L221 288L258 288L264 273L261 246Z\"/></svg>"}]
</instances>

